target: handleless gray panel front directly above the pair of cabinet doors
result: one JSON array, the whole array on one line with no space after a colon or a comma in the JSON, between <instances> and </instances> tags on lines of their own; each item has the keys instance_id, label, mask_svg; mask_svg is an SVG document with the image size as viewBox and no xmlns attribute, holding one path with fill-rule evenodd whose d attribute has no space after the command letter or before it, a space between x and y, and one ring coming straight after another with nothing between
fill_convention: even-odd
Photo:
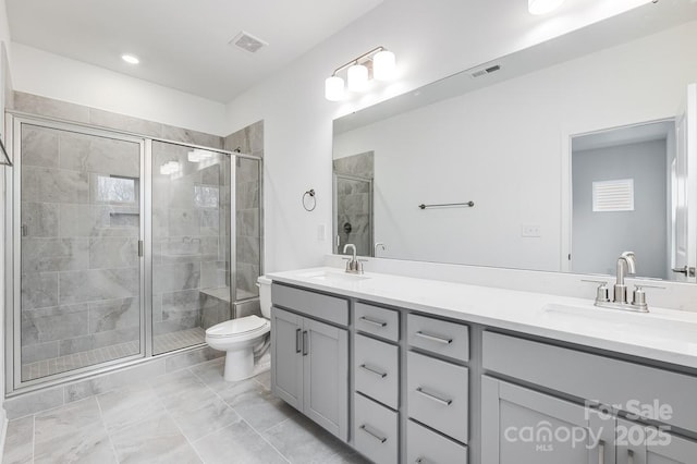
<instances>
[{"instance_id":1,"label":"handleless gray panel front directly above the pair of cabinet doors","mask_svg":"<svg viewBox=\"0 0 697 464\"><path fill-rule=\"evenodd\" d=\"M293 286L271 284L271 302L317 319L348 326L348 301Z\"/></svg>"}]
</instances>

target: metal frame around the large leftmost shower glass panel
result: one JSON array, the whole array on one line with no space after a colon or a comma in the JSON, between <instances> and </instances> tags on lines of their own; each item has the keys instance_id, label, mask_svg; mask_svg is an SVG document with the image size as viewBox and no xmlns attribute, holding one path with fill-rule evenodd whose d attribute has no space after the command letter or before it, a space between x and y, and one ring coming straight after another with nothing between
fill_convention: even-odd
<instances>
[{"instance_id":1,"label":"metal frame around the large leftmost shower glass panel","mask_svg":"<svg viewBox=\"0 0 697 464\"><path fill-rule=\"evenodd\" d=\"M138 361L146 357L146 262L143 257L139 259L139 353L124 356L105 363L85 366L77 369L66 370L46 377L32 380L22 380L22 325L16 323L22 320L22 125L30 124L39 127L65 131L95 137L103 137L122 142L138 144L140 176L138 178L139 202L138 208L140 220L138 225L138 241L145 241L146 218L149 218L150 203L146 200L150 193L146 192L146 139L143 136L121 133L118 131L102 130L84 124L65 122L50 118L42 118L32 114L8 112L5 120L8 146L12 147L12 158L14 167L11 171L5 170L5 394L11 394L17 390L28 391L35 386L48 386L58 383L65 378L78 378L82 374L100 373L113 366L121 366L124 363ZM145 242L144 242L145 243ZM11 257L11 259L9 259ZM151 306L148 308L151 310ZM150 317L151 319L151 317Z\"/></svg>"}]
</instances>

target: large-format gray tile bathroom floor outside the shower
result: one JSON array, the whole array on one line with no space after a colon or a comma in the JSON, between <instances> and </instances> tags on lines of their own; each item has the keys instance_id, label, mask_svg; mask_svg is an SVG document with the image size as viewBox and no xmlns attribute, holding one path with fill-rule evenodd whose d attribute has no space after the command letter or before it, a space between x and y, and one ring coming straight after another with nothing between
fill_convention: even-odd
<instances>
[{"instance_id":1,"label":"large-format gray tile bathroom floor outside the shower","mask_svg":"<svg viewBox=\"0 0 697 464\"><path fill-rule=\"evenodd\" d=\"M2 463L365 463L223 359L10 422Z\"/></svg>"}]
</instances>

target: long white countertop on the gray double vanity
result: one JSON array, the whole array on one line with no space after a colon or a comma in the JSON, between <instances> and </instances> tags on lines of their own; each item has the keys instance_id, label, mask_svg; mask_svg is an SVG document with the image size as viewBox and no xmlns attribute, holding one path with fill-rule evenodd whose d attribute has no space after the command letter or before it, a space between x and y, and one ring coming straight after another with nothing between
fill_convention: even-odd
<instances>
[{"instance_id":1,"label":"long white countertop on the gray double vanity","mask_svg":"<svg viewBox=\"0 0 697 464\"><path fill-rule=\"evenodd\" d=\"M697 368L697 313L597 308L588 300L337 268L268 273L293 285Z\"/></svg>"}]
</instances>

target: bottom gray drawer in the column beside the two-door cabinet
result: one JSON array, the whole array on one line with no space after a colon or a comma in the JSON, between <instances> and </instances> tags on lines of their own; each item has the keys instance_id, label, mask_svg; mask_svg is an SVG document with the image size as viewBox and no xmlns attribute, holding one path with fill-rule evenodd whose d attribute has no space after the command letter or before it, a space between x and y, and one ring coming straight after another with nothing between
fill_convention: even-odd
<instances>
[{"instance_id":1,"label":"bottom gray drawer in the column beside the two-door cabinet","mask_svg":"<svg viewBox=\"0 0 697 464\"><path fill-rule=\"evenodd\" d=\"M395 464L399 449L398 414L360 394L354 394L353 436L356 450L377 464Z\"/></svg>"}]
</instances>

